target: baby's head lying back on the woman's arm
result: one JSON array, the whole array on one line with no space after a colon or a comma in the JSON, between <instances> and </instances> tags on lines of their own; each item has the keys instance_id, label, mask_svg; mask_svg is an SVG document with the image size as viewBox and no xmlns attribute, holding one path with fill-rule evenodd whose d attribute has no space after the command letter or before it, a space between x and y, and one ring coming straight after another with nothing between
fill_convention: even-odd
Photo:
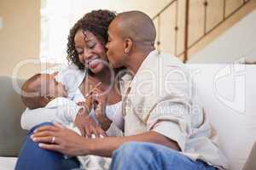
<instances>
[{"instance_id":1,"label":"baby's head lying back on the woman's arm","mask_svg":"<svg viewBox=\"0 0 256 170\"><path fill-rule=\"evenodd\" d=\"M47 105L57 97L67 97L67 91L61 82L56 82L54 74L36 74L22 85L21 99L29 109Z\"/></svg>"}]
</instances>

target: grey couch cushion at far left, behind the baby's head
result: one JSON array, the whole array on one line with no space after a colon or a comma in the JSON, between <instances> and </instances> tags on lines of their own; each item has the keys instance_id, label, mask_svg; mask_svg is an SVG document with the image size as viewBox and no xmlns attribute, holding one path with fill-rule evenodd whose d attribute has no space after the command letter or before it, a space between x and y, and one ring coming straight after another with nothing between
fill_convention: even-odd
<instances>
[{"instance_id":1,"label":"grey couch cushion at far left, behind the baby's head","mask_svg":"<svg viewBox=\"0 0 256 170\"><path fill-rule=\"evenodd\" d=\"M17 80L19 84L21 80ZM0 77L0 156L17 156L26 131L20 127L25 106L9 77Z\"/></svg>"}]
</instances>

